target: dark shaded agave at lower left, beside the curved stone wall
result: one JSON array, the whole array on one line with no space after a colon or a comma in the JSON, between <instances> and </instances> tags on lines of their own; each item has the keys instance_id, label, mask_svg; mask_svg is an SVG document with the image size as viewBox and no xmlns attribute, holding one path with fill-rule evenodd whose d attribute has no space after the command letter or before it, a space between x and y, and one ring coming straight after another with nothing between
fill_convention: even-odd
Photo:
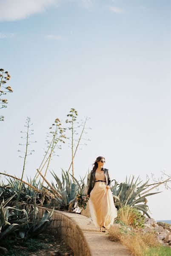
<instances>
[{"instance_id":1,"label":"dark shaded agave at lower left, beside the curved stone wall","mask_svg":"<svg viewBox=\"0 0 171 256\"><path fill-rule=\"evenodd\" d=\"M21 238L28 235L33 237L43 233L52 220L51 216L54 212L54 208L51 212L45 210L43 217L40 220L39 210L36 206L36 198L34 200L34 207L28 208L26 205L26 210L6 206L14 196L15 194L8 200L1 202L0 205L0 231L2 230L0 233L0 240L15 231L19 232Z\"/></svg>"}]
</instances>

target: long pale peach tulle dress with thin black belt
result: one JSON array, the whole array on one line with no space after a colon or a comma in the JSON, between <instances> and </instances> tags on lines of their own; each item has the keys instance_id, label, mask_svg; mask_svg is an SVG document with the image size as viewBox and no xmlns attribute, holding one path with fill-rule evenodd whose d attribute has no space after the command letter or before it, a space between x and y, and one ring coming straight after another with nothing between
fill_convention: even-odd
<instances>
[{"instance_id":1,"label":"long pale peach tulle dress with thin black belt","mask_svg":"<svg viewBox=\"0 0 171 256\"><path fill-rule=\"evenodd\" d=\"M95 173L95 180L105 180L104 172ZM106 182L95 182L91 190L88 201L91 218L96 227L106 227L114 223L117 217L117 209L114 205L114 199L111 189L106 188Z\"/></svg>"}]
</instances>

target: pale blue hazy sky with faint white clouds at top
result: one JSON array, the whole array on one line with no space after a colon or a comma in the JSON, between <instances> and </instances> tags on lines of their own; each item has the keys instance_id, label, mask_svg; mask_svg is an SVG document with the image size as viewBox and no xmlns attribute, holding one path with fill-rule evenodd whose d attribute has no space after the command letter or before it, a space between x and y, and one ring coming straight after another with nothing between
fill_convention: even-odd
<instances>
[{"instance_id":1,"label":"pale blue hazy sky with faint white clouds at top","mask_svg":"<svg viewBox=\"0 0 171 256\"><path fill-rule=\"evenodd\" d=\"M43 159L48 128L75 108L79 120L91 117L76 177L99 155L119 182L171 174L170 0L0 0L0 9L0 68L14 90L0 112L1 172L21 177L27 116L37 143L25 178ZM57 153L48 180L70 165L67 143ZM171 219L171 191L160 191L147 198L152 216Z\"/></svg>"}]
</instances>

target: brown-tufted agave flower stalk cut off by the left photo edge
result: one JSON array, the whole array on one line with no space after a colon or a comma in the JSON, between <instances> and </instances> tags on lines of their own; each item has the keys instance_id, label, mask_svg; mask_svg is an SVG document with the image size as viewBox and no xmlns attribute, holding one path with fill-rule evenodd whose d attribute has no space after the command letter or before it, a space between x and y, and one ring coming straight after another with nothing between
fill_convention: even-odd
<instances>
[{"instance_id":1,"label":"brown-tufted agave flower stalk cut off by the left photo edge","mask_svg":"<svg viewBox=\"0 0 171 256\"><path fill-rule=\"evenodd\" d=\"M0 96L5 95L6 93L13 93L11 86L6 86L6 82L9 81L11 76L8 71L4 72L4 69L0 69ZM5 85L5 86L4 86ZM0 109L7 108L8 100L0 98ZM4 116L0 116L0 121L4 121Z\"/></svg>"}]
</instances>

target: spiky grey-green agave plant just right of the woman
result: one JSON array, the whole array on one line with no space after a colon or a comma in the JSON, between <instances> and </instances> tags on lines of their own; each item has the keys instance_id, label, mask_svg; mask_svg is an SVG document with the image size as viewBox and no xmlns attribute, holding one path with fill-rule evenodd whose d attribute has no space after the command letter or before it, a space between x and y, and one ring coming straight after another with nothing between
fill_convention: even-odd
<instances>
[{"instance_id":1,"label":"spiky grey-green agave plant just right of the woman","mask_svg":"<svg viewBox=\"0 0 171 256\"><path fill-rule=\"evenodd\" d=\"M139 177L134 182L134 176L132 177L132 180L130 182L131 176L129 177L129 180L127 181L127 177L125 180L125 183L118 184L116 181L114 183L114 186L111 187L111 191L113 193L114 197L114 204L117 208L122 207L124 205L129 205L130 207L136 208L140 211L142 211L145 215L148 216L148 218L151 218L148 214L148 205L146 197L150 195L155 195L160 192L154 192L154 193L147 193L144 195L141 195L141 192L147 189L148 181L146 181L144 184L141 185L141 182L138 182ZM144 203L144 204L141 204Z\"/></svg>"}]
</instances>

